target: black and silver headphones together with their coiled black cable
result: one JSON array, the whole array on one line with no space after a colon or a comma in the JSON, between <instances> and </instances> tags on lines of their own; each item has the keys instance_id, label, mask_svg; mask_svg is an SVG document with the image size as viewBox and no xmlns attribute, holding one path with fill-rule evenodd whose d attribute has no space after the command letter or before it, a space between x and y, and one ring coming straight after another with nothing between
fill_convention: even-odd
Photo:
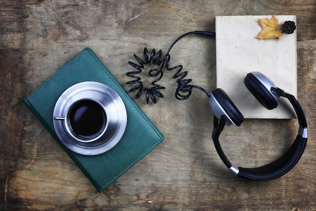
<instances>
[{"instance_id":1,"label":"black and silver headphones together with their coiled black cable","mask_svg":"<svg viewBox=\"0 0 316 211\"><path fill-rule=\"evenodd\" d=\"M135 97L137 99L143 92L146 91L146 102L149 102L150 97L152 101L156 103L156 96L164 97L164 95L160 91L158 91L158 89L165 89L165 87L156 84L163 77L162 69L164 65L166 64L167 70L178 69L176 74L173 76L173 78L180 78L177 81L178 88L175 94L177 99L187 99L191 95L192 88L198 88L204 91L209 97L209 104L214 113L214 129L212 133L212 138L218 154L220 155L222 161L229 170L231 170L235 175L238 175L239 177L249 178L252 180L272 180L281 177L287 172L289 172L296 165L296 163L302 156L304 149L306 147L308 136L306 119L298 101L295 99L293 95L286 93L282 89L276 87L274 83L264 74L260 72L248 73L244 79L244 84L266 109L272 110L277 108L278 99L280 98L280 96L286 97L290 101L295 110L299 122L298 135L296 136L294 143L287 150L287 152L285 152L285 154L283 154L278 160L266 166L258 168L242 168L238 167L235 164L232 164L227 159L227 156L225 155L221 147L219 137L225 125L230 126L233 124L235 126L240 126L241 123L243 123L244 121L244 117L223 89L218 88L213 90L212 93L209 93L208 91L199 86L190 85L189 83L192 81L192 79L184 79L188 72L181 72L183 68L182 65L169 67L169 52L171 48L181 38L190 34L200 34L215 37L214 32L208 31L192 31L185 33L171 44L164 57L162 57L162 50L159 50L159 52L155 54L155 49L152 49L151 54L149 56L147 48L144 48L145 61L142 61L139 57L134 55L135 59L138 61L139 64L129 62L129 64L132 67L137 69L136 71L126 73L127 76L132 77L134 79L132 81L126 82L126 84L136 84L133 88L129 90L129 92L139 89ZM160 65L160 68L151 69L149 71L149 76L157 76L158 78L151 82L151 84L153 85L151 88L144 88L141 82L141 78L134 74L142 72L142 68L144 68L144 65L149 63ZM183 94L183 92L186 92L187 94Z\"/></svg>"}]
</instances>

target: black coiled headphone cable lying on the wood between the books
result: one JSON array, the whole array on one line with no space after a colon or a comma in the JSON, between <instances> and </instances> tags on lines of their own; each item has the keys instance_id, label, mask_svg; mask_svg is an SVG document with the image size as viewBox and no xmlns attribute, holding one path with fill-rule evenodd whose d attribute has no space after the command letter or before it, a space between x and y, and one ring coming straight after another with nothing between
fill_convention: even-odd
<instances>
[{"instance_id":1,"label":"black coiled headphone cable lying on the wood between the books","mask_svg":"<svg viewBox=\"0 0 316 211\"><path fill-rule=\"evenodd\" d=\"M199 86L195 86L195 85L191 85L189 84L192 79L185 79L185 77L187 76L188 72L184 71L181 72L183 66L182 65L178 65L175 67L169 67L169 63L170 63L170 50L172 49L172 47L183 37L189 35L189 34L201 34L201 35L207 35L207 36L211 36L211 37L215 37L215 32L208 32L208 31L191 31L188 33L185 33L183 35L181 35L180 37L178 37L169 47L169 49L166 52L166 55L164 57L162 57L162 50L159 50L156 54L155 49L153 48L150 56L149 56L149 52L147 50L146 47L144 47L144 61L141 60L137 55L134 54L135 59L137 60L137 62L139 64L136 64L134 62L128 62L132 67L134 67L136 70L135 71L131 71L126 73L127 76L135 78L134 80L128 81L126 82L126 84L133 84L135 85L134 87L132 87L129 92L135 91L138 89L138 92L135 96L135 99L137 99L138 97L140 97L145 91L146 91L146 102L147 104L149 103L149 98L153 101L153 103L157 102L156 96L157 97L164 97L164 95L159 91L159 89L165 89L164 86L156 84L158 81L160 81L160 79L162 79L164 73L163 73L163 68L166 64L166 69L168 71L171 70L175 70L178 69L178 71L174 74L173 78L177 80L178 83L178 87L176 89L176 93L175 96L177 99L179 100L185 100L187 98L190 97L191 93L192 93L192 88L197 88L200 89L202 91L204 91L207 96L210 96L210 93L208 91L206 91L205 89L203 89L202 87ZM142 72L142 68L144 68L144 65L147 64L156 64L157 66L160 66L160 68L153 68L151 70L149 70L148 75L151 77L157 77L156 80L151 82L151 87L144 87L141 78L135 74L141 73Z\"/></svg>"}]
</instances>

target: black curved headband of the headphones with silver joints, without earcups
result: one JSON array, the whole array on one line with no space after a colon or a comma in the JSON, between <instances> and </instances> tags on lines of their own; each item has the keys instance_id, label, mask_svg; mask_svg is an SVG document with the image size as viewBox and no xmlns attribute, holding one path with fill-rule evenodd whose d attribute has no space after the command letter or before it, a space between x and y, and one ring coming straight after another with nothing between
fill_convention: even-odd
<instances>
[{"instance_id":1,"label":"black curved headband of the headphones with silver joints, without earcups","mask_svg":"<svg viewBox=\"0 0 316 211\"><path fill-rule=\"evenodd\" d=\"M214 130L212 133L212 138L215 148L226 167L239 177L253 180L272 180L281 177L282 175L289 172L297 164L306 147L308 130L305 115L302 108L300 107L300 104L293 95L284 92L280 88L272 87L271 92L276 95L286 97L291 102L300 127L295 141L287 150L287 152L285 152L285 154L283 154L278 160L266 166L258 168L242 168L232 164L227 159L227 156L225 155L219 142L219 137L225 127L227 117L222 115L221 118L218 119L216 116L214 116Z\"/></svg>"}]
</instances>

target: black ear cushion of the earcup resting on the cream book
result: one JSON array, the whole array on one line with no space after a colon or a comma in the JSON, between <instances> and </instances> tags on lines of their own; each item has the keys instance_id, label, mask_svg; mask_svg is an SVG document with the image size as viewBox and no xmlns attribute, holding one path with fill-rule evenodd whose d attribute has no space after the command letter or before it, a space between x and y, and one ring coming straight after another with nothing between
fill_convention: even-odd
<instances>
[{"instance_id":1,"label":"black ear cushion of the earcup resting on the cream book","mask_svg":"<svg viewBox=\"0 0 316 211\"><path fill-rule=\"evenodd\" d=\"M266 109L272 110L277 108L278 101L252 73L247 74L244 79L244 84Z\"/></svg>"}]
</instances>

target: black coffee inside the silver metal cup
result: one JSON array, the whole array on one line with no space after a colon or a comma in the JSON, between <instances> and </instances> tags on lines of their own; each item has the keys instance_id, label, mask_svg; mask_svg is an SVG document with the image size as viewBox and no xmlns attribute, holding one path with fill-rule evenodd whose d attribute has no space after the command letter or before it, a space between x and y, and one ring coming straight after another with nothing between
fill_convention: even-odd
<instances>
[{"instance_id":1,"label":"black coffee inside the silver metal cup","mask_svg":"<svg viewBox=\"0 0 316 211\"><path fill-rule=\"evenodd\" d=\"M80 138L98 136L106 127L106 122L107 116L101 105L93 100L81 100L69 112L70 127Z\"/></svg>"}]
</instances>

